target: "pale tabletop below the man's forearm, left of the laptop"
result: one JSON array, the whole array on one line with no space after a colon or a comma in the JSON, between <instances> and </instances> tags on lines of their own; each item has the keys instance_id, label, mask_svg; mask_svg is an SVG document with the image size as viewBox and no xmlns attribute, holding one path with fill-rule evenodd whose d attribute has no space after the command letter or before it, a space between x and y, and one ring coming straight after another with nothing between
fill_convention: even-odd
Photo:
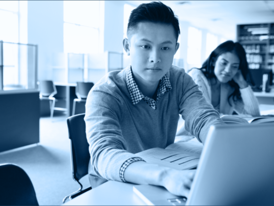
<instances>
[{"instance_id":1,"label":"pale tabletop below the man's forearm, left of the laptop","mask_svg":"<svg viewBox=\"0 0 274 206\"><path fill-rule=\"evenodd\" d=\"M146 205L133 192L133 185L108 181L63 205Z\"/></svg>"}]
</instances>

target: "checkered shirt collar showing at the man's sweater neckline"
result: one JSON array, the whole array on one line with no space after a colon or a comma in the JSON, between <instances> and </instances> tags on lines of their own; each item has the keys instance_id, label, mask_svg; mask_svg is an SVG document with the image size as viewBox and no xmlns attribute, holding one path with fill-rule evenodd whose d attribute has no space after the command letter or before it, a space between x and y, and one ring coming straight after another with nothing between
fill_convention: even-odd
<instances>
[{"instance_id":1,"label":"checkered shirt collar showing at the man's sweater neckline","mask_svg":"<svg viewBox=\"0 0 274 206\"><path fill-rule=\"evenodd\" d=\"M157 98L155 101L154 99L143 95L142 92L139 90L138 85L136 84L136 82L133 78L131 66L128 66L126 70L127 70L126 71L126 84L127 84L127 88L129 90L129 94L130 94L131 101L132 101L133 105L137 104L142 99L144 99L145 102L152 109L156 109L157 102L160 100L161 96L163 94L165 94L166 92L169 92L172 89L168 75L165 74L165 76L163 76L160 79L160 83L159 83L158 90L157 90Z\"/></svg>"}]
</instances>

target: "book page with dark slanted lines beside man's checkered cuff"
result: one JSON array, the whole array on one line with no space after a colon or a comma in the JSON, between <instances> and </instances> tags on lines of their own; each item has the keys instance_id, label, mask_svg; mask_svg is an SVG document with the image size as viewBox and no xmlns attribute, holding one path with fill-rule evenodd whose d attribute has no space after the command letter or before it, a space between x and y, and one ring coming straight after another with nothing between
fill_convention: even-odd
<instances>
[{"instance_id":1,"label":"book page with dark slanted lines beside man's checkered cuff","mask_svg":"<svg viewBox=\"0 0 274 206\"><path fill-rule=\"evenodd\" d=\"M196 156L181 154L171 150L153 148L140 153L136 153L148 163L171 167L178 170L191 169L198 165L199 159Z\"/></svg>"}]
</instances>

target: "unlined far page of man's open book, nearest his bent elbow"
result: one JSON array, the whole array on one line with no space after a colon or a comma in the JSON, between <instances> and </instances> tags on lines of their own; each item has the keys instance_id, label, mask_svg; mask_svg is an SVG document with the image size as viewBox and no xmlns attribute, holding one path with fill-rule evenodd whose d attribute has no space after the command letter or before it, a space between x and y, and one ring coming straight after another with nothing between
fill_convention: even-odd
<instances>
[{"instance_id":1,"label":"unlined far page of man's open book, nearest his bent elbow","mask_svg":"<svg viewBox=\"0 0 274 206\"><path fill-rule=\"evenodd\" d=\"M200 157L203 151L203 144L197 141L186 141L186 142L176 142L167 146L166 150L172 150L179 153L184 153L187 155L193 155L195 157Z\"/></svg>"}]
</instances>

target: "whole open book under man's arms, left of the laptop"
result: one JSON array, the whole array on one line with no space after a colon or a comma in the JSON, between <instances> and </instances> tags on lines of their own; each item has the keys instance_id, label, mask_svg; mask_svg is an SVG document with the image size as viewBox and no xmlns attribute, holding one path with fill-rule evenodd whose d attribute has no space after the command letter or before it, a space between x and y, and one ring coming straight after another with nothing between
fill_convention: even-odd
<instances>
[{"instance_id":1,"label":"whole open book under man's arms, left of the laptop","mask_svg":"<svg viewBox=\"0 0 274 206\"><path fill-rule=\"evenodd\" d=\"M148 163L183 170L197 167L202 150L202 143L190 140L173 143L166 149L152 148L136 155Z\"/></svg>"}]
</instances>

